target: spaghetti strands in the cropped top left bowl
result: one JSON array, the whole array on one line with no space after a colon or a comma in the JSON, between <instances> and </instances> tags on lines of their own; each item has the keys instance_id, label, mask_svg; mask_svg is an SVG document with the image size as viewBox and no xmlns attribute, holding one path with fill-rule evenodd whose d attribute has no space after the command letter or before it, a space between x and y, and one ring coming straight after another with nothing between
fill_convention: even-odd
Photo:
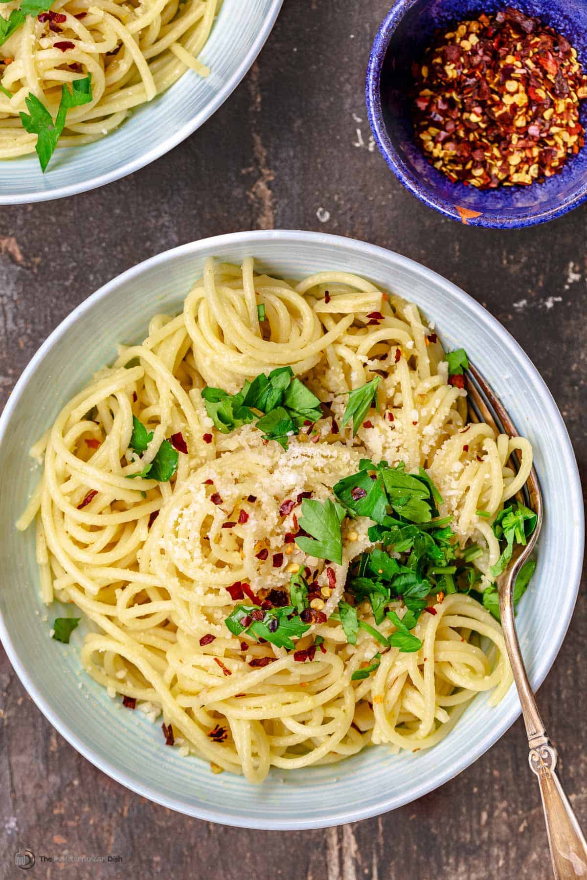
<instances>
[{"instance_id":1,"label":"spaghetti strands in the cropped top left bowl","mask_svg":"<svg viewBox=\"0 0 587 880\"><path fill-rule=\"evenodd\" d=\"M9 18L19 0L4 3ZM91 143L118 128L133 107L150 101L185 73L202 77L198 61L219 0L55 0L50 10L29 15L0 48L0 158L24 156L37 135L19 113L26 99L48 107L55 118L62 84L92 75L92 100L72 107L60 146Z\"/></svg>"}]
</instances>

